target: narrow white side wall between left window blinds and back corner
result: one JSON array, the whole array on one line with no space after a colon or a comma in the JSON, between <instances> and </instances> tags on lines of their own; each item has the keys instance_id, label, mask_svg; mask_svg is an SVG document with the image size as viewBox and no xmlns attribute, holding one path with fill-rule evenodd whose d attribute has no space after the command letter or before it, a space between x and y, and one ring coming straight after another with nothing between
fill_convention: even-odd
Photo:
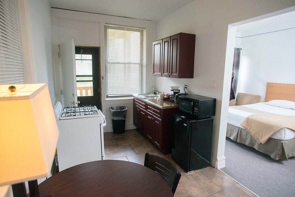
<instances>
[{"instance_id":1,"label":"narrow white side wall between left window blinds and back corner","mask_svg":"<svg viewBox=\"0 0 295 197\"><path fill-rule=\"evenodd\" d=\"M57 100L53 59L51 8L47 0L28 0L34 83L47 83L52 104Z\"/></svg>"}]
</instances>

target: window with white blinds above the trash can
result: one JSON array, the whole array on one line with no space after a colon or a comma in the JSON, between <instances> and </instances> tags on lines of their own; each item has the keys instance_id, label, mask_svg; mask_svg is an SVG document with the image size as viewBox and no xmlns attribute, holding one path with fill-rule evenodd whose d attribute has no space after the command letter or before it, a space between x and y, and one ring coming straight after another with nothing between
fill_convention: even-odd
<instances>
[{"instance_id":1,"label":"window with white blinds above the trash can","mask_svg":"<svg viewBox=\"0 0 295 197\"><path fill-rule=\"evenodd\" d=\"M106 96L145 92L145 29L106 24Z\"/></svg>"}]
</instances>

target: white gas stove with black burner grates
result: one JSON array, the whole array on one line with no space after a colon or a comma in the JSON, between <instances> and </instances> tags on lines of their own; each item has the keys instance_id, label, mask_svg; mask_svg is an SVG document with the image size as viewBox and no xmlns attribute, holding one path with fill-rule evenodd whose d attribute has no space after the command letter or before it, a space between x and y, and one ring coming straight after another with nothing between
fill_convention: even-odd
<instances>
[{"instance_id":1,"label":"white gas stove with black burner grates","mask_svg":"<svg viewBox=\"0 0 295 197\"><path fill-rule=\"evenodd\" d=\"M59 170L104 158L106 119L96 106L54 107L59 129L57 144Z\"/></svg>"}]
</instances>

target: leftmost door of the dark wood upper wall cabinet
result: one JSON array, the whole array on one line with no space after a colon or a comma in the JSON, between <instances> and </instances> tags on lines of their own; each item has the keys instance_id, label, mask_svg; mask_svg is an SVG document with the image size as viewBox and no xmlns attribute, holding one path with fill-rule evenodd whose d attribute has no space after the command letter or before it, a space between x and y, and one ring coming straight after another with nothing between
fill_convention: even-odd
<instances>
[{"instance_id":1,"label":"leftmost door of the dark wood upper wall cabinet","mask_svg":"<svg viewBox=\"0 0 295 197\"><path fill-rule=\"evenodd\" d=\"M161 76L162 68L162 40L153 42L153 75Z\"/></svg>"}]
</instances>

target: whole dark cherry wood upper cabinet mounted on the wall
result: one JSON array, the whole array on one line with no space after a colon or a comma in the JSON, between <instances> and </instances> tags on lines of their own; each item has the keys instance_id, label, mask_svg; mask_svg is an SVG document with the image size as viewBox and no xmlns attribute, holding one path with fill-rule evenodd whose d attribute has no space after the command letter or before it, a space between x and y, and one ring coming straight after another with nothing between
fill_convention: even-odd
<instances>
[{"instance_id":1,"label":"whole dark cherry wood upper cabinet mounted on the wall","mask_svg":"<svg viewBox=\"0 0 295 197\"><path fill-rule=\"evenodd\" d=\"M187 33L178 33L153 42L153 75L173 78L194 78L195 43L196 35ZM162 52L158 51L160 46L162 47ZM160 58L158 55L160 55ZM162 60L161 75L158 72L159 60Z\"/></svg>"}]
</instances>

